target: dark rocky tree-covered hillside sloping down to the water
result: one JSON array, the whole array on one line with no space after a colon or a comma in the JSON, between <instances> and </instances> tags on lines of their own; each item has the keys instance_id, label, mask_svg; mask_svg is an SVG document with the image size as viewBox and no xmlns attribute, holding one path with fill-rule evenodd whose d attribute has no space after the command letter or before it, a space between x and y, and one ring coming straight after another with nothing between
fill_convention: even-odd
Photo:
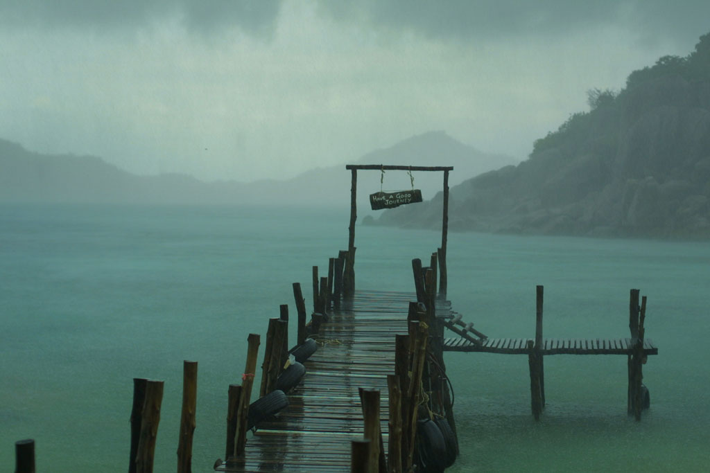
<instances>
[{"instance_id":1,"label":"dark rocky tree-covered hillside sloping down to the water","mask_svg":"<svg viewBox=\"0 0 710 473\"><path fill-rule=\"evenodd\" d=\"M626 88L589 91L529 159L452 187L449 228L503 233L710 237L710 33ZM411 207L411 208L410 208ZM441 225L441 196L377 223Z\"/></svg>"}]
</instances>

